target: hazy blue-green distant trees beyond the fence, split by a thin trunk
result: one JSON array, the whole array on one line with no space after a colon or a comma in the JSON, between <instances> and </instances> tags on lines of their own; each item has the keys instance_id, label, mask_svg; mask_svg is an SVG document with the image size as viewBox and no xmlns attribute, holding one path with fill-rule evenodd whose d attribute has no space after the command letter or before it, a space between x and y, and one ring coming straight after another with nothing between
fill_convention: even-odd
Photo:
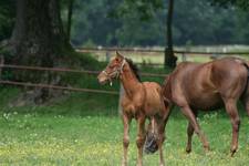
<instances>
[{"instance_id":1,"label":"hazy blue-green distant trees beyond the fence, split by a thin trunk","mask_svg":"<svg viewBox=\"0 0 249 166\"><path fill-rule=\"evenodd\" d=\"M75 1L72 42L75 45L165 45L168 2L156 10L148 8L148 18L120 0ZM185 44L248 44L249 12L238 8L211 6L208 0L176 0L173 39Z\"/></svg>"}]
</instances>

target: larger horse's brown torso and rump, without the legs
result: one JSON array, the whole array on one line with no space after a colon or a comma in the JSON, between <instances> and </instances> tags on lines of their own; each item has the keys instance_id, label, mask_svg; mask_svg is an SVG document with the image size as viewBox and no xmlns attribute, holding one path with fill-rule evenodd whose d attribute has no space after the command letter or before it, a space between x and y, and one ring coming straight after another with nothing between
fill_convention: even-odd
<instances>
[{"instance_id":1,"label":"larger horse's brown torso and rump, without the legs","mask_svg":"<svg viewBox=\"0 0 249 166\"><path fill-rule=\"evenodd\" d=\"M242 60L226 58L208 63L181 63L170 74L173 101L197 110L222 105L222 97L239 97L247 82Z\"/></svg>"}]
</instances>

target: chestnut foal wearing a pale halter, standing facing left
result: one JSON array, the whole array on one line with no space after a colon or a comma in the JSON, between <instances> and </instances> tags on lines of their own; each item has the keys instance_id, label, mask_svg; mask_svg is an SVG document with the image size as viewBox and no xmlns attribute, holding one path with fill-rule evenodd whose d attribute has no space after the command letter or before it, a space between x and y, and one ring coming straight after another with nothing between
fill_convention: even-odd
<instances>
[{"instance_id":1,"label":"chestnut foal wearing a pale halter, standing facing left","mask_svg":"<svg viewBox=\"0 0 249 166\"><path fill-rule=\"evenodd\" d=\"M124 125L124 138L123 138L123 162L122 165L127 165L127 148L129 144L129 124L132 118L137 121L137 137L136 145L137 165L142 166L143 162L143 147L145 143L145 121L149 118L155 121L155 133L157 134L156 144L159 148L159 164L164 165L163 157L163 142L165 129L165 116L168 111L164 105L162 96L162 87L155 82L141 82L137 74L136 66L131 60L125 59L118 52L116 56L108 63L104 71L98 76L98 82L104 84L110 81L112 84L113 79L118 79L124 87L124 94L122 96L122 118ZM152 126L152 125L151 125Z\"/></svg>"}]
</instances>

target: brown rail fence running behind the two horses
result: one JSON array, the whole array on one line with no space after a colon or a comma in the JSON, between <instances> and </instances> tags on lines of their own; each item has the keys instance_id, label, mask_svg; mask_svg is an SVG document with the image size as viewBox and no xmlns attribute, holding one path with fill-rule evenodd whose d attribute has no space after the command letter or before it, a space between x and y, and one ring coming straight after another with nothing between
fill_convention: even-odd
<instances>
[{"instance_id":1,"label":"brown rail fence running behind the two horses","mask_svg":"<svg viewBox=\"0 0 249 166\"><path fill-rule=\"evenodd\" d=\"M106 61L110 60L108 52L114 52L116 50L122 52L144 52L144 53L164 53L164 50L153 50L153 49L131 49L131 48L75 48L80 52L105 52ZM175 53L180 53L183 59L186 54L203 54L203 55L249 55L249 52L187 52L187 51L174 51ZM49 72L68 72L68 73L80 73L80 74L98 74L100 71L90 71L90 70L74 70L74 69L64 69L64 68L43 68L43 66L25 66L25 65L13 65L13 64L4 64L4 59L0 58L0 74L2 69L13 69L13 70L29 70L29 71L49 71ZM152 64L159 65L159 64ZM162 65L162 64L160 64ZM165 77L166 74L157 74L157 73L141 73L142 76L149 77ZM102 93L102 94L113 94L117 95L120 92L117 91L105 91L105 90L95 90L95 89L80 89L80 87L70 87L70 86L59 86L51 84L37 84L29 82L17 82L17 81L3 81L0 80L0 84L7 85L15 85L15 86L25 86L25 87L40 87L40 89L54 89L54 90L66 90L66 91L75 91L75 92L89 92L89 93Z\"/></svg>"}]
</instances>

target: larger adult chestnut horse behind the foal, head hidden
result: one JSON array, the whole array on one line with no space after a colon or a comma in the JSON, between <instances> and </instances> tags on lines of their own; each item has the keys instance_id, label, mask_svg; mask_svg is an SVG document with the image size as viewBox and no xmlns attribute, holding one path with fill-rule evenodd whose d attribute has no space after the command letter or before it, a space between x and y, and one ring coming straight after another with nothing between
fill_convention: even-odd
<instances>
[{"instance_id":1,"label":"larger adult chestnut horse behind the foal, head hidden","mask_svg":"<svg viewBox=\"0 0 249 166\"><path fill-rule=\"evenodd\" d=\"M230 152L231 156L234 156L238 148L240 126L237 108L239 100L243 103L249 115L248 80L248 63L236 58L225 58L203 64L185 62L180 63L169 74L165 80L163 95L169 107L170 105L178 105L189 121L187 153L191 152L194 132L199 136L204 148L209 149L208 141L196 120L198 110L211 111L225 107L232 125Z\"/></svg>"}]
</instances>

